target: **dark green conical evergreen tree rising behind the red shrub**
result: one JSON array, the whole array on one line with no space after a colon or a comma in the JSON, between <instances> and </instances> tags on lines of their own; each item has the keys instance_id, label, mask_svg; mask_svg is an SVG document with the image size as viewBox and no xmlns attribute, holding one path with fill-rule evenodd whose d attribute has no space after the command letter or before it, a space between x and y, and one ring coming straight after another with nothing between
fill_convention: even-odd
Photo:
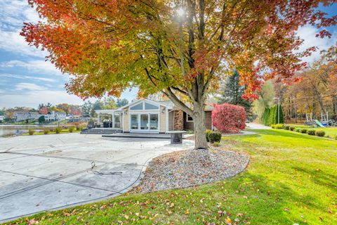
<instances>
[{"instance_id":1,"label":"dark green conical evergreen tree rising behind the red shrub","mask_svg":"<svg viewBox=\"0 0 337 225\"><path fill-rule=\"evenodd\" d=\"M232 76L227 78L223 94L221 94L218 103L230 103L232 105L241 105L246 110L247 118L251 117L251 102L242 98L244 92L246 91L246 86L241 86L239 84L240 75L234 70Z\"/></svg>"}]
</instances>

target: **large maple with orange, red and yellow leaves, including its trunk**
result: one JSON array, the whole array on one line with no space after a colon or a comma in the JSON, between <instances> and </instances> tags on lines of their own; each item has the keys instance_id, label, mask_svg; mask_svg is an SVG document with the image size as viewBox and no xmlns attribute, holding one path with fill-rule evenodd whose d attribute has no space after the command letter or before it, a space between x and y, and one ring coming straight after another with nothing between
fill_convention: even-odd
<instances>
[{"instance_id":1,"label":"large maple with orange, red and yellow leaves, including its trunk","mask_svg":"<svg viewBox=\"0 0 337 225\"><path fill-rule=\"evenodd\" d=\"M246 97L256 98L264 80L286 82L315 51L293 51L303 42L298 27L309 23L330 37L322 27L337 20L319 11L334 2L327 0L28 2L44 20L25 23L21 34L72 75L70 93L118 97L131 86L140 97L161 92L193 117L195 148L207 148L205 101L227 71L236 68Z\"/></svg>"}]
</instances>

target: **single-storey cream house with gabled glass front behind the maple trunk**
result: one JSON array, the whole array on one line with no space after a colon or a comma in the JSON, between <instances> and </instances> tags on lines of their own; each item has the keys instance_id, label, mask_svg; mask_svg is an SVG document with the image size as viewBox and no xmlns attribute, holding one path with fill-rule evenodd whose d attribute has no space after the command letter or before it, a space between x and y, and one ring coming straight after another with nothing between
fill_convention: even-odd
<instances>
[{"instance_id":1,"label":"single-storey cream house with gabled glass front behind the maple trunk","mask_svg":"<svg viewBox=\"0 0 337 225\"><path fill-rule=\"evenodd\" d=\"M206 129L212 129L211 111L206 106ZM180 110L171 101L140 99L117 110L95 110L101 127L121 129L123 132L153 132L192 130L190 115Z\"/></svg>"}]
</instances>

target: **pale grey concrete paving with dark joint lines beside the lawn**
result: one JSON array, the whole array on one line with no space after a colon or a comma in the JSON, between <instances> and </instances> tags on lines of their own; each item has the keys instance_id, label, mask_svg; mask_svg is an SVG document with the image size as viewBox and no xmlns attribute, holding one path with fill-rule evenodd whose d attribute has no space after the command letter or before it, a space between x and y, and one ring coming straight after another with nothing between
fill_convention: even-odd
<instances>
[{"instance_id":1,"label":"pale grey concrete paving with dark joint lines beside the lawn","mask_svg":"<svg viewBox=\"0 0 337 225\"><path fill-rule=\"evenodd\" d=\"M84 134L0 139L0 222L120 195L152 158L193 146Z\"/></svg>"}]
</instances>

